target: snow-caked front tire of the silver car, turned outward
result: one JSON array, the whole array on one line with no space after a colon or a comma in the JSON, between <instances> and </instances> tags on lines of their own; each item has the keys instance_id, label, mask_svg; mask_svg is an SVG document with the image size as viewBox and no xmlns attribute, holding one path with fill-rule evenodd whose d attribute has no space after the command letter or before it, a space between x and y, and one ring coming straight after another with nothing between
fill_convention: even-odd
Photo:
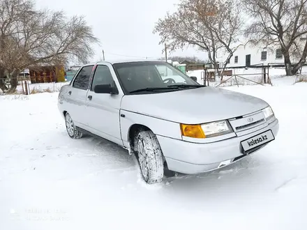
<instances>
[{"instance_id":1,"label":"snow-caked front tire of the silver car, turned outward","mask_svg":"<svg viewBox=\"0 0 307 230\"><path fill-rule=\"evenodd\" d=\"M156 135L151 131L139 132L135 138L135 150L144 181L149 184L163 181L163 157Z\"/></svg>"}]
</instances>

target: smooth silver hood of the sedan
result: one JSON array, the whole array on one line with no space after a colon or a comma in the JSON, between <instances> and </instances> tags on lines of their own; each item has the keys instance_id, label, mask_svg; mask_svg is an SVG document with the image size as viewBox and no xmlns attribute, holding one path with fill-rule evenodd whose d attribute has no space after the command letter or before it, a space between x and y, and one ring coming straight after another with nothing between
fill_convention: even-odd
<instances>
[{"instance_id":1,"label":"smooth silver hood of the sedan","mask_svg":"<svg viewBox=\"0 0 307 230\"><path fill-rule=\"evenodd\" d=\"M125 95L121 109L177 123L220 121L256 112L267 102L243 93L202 87L167 93Z\"/></svg>"}]
</instances>

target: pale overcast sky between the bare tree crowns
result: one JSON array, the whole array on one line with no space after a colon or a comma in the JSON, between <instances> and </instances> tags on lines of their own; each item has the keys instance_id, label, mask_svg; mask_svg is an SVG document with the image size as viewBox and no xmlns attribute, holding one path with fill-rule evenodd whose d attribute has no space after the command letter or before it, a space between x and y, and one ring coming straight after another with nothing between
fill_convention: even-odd
<instances>
[{"instance_id":1,"label":"pale overcast sky between the bare tree crowns","mask_svg":"<svg viewBox=\"0 0 307 230\"><path fill-rule=\"evenodd\" d=\"M85 15L93 33L100 39L101 47L94 47L92 61L102 57L114 59L156 59L162 54L159 36L152 33L155 22L167 11L174 10L178 0L36 0L38 8L64 10L67 15ZM115 55L117 54L117 55ZM207 54L195 49L177 51L172 55L197 56L206 59Z\"/></svg>"}]
</instances>

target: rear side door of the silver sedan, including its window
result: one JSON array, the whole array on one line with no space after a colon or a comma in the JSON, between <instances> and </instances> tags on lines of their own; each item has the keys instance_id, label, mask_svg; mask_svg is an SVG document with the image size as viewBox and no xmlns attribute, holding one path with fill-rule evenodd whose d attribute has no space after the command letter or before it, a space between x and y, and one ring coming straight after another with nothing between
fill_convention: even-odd
<instances>
[{"instance_id":1,"label":"rear side door of the silver sedan, including its window","mask_svg":"<svg viewBox=\"0 0 307 230\"><path fill-rule=\"evenodd\" d=\"M73 118L75 125L80 128L85 128L87 126L85 102L92 70L93 66L84 66L80 69L75 79L73 79L70 90L68 91L67 98L68 102L70 102L68 113Z\"/></svg>"}]
</instances>

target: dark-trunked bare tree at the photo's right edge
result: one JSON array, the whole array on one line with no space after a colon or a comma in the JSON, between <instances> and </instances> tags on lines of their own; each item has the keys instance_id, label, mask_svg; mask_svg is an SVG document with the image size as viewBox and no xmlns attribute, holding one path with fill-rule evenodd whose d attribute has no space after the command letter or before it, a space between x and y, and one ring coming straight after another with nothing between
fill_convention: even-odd
<instances>
[{"instance_id":1,"label":"dark-trunked bare tree at the photo's right edge","mask_svg":"<svg viewBox=\"0 0 307 230\"><path fill-rule=\"evenodd\" d=\"M246 29L248 38L265 47L280 48L286 75L296 74L307 56L307 0L242 1L253 18ZM292 65L294 58L299 61Z\"/></svg>"}]
</instances>

